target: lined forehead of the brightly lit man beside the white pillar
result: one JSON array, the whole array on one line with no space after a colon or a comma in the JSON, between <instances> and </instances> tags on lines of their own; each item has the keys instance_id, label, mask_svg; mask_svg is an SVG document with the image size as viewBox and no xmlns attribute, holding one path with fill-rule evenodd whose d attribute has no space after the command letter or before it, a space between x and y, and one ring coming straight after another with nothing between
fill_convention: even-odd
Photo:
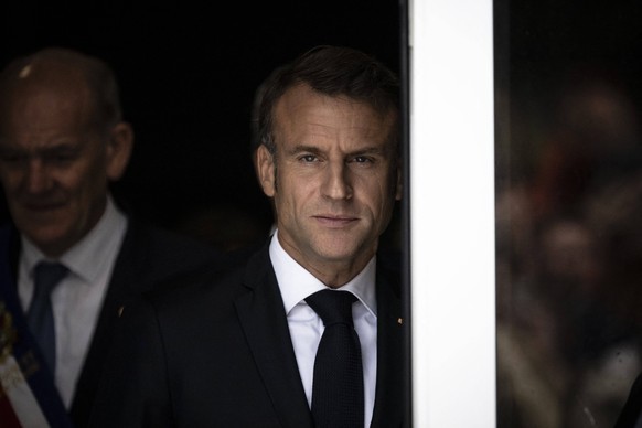
<instances>
[{"instance_id":1,"label":"lined forehead of the brightly lit man beside the white pillar","mask_svg":"<svg viewBox=\"0 0 642 428\"><path fill-rule=\"evenodd\" d=\"M331 138L377 146L392 140L395 124L394 114L382 115L366 103L321 94L307 85L295 86L281 96L274 120L277 141Z\"/></svg>"}]
</instances>

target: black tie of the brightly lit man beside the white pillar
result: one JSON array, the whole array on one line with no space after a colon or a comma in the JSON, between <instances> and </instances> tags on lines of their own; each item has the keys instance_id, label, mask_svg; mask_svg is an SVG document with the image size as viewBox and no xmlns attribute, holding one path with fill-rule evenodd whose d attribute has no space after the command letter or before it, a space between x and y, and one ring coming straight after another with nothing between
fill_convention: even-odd
<instances>
[{"instance_id":1,"label":"black tie of the brightly lit man beside the white pillar","mask_svg":"<svg viewBox=\"0 0 642 428\"><path fill-rule=\"evenodd\" d=\"M350 292L330 289L306 299L325 325L312 382L312 417L317 428L363 428L361 344L352 320L355 300Z\"/></svg>"}]
</instances>

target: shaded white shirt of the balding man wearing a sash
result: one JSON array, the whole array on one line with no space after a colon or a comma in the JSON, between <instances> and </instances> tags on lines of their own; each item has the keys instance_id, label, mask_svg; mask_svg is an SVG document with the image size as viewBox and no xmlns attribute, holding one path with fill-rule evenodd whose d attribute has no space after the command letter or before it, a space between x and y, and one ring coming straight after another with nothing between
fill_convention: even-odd
<instances>
[{"instance_id":1,"label":"shaded white shirt of the balding man wearing a sash","mask_svg":"<svg viewBox=\"0 0 642 428\"><path fill-rule=\"evenodd\" d=\"M68 269L67 276L52 292L56 332L55 384L67 408L87 351L116 256L127 229L127 218L109 199L96 226L57 261ZM26 312L33 296L33 268L46 257L22 237L18 292Z\"/></svg>"}]
</instances>

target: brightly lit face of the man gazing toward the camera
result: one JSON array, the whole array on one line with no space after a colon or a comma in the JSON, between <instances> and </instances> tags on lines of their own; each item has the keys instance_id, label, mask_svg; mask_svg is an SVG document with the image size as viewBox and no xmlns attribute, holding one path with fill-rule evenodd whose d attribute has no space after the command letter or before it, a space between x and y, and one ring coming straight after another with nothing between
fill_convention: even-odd
<instances>
[{"instance_id":1,"label":"brightly lit face of the man gazing toward the camera","mask_svg":"<svg viewBox=\"0 0 642 428\"><path fill-rule=\"evenodd\" d=\"M375 254L402 193L394 119L306 85L277 103L276 159L260 148L261 183L274 196L279 242L312 274L356 274Z\"/></svg>"}]
</instances>

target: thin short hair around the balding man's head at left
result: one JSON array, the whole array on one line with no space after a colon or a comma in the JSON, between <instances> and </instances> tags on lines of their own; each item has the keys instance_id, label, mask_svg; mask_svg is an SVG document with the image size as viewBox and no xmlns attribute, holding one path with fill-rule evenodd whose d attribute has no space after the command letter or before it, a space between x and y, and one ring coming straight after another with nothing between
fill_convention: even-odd
<instances>
[{"instance_id":1,"label":"thin short hair around the balding man's head at left","mask_svg":"<svg viewBox=\"0 0 642 428\"><path fill-rule=\"evenodd\" d=\"M73 69L84 79L94 103L94 120L98 129L107 130L122 120L118 83L111 67L98 57L66 47L46 47L13 60L0 74L0 97L11 90L25 69L34 78L47 79L49 67Z\"/></svg>"}]
</instances>

